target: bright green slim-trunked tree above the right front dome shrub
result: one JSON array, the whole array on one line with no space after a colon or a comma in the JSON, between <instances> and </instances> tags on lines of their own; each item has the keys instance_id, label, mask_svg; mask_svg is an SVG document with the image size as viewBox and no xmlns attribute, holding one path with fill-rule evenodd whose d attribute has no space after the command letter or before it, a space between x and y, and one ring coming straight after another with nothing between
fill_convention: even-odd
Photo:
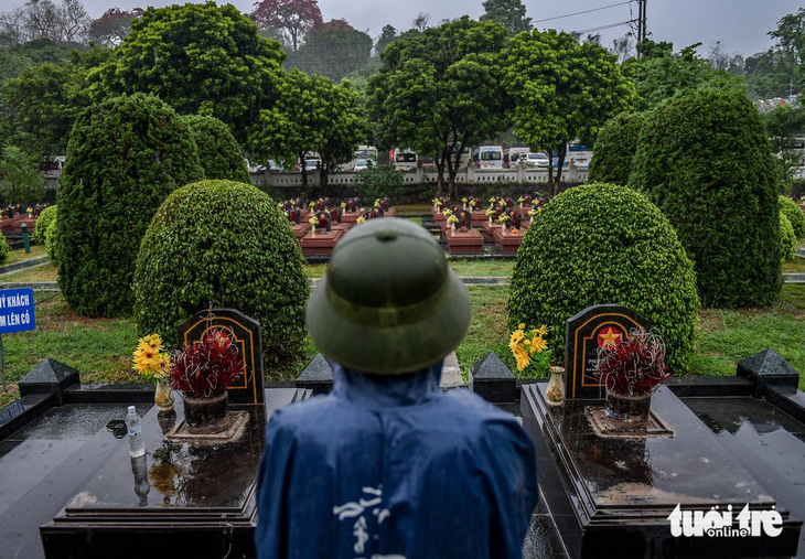
<instances>
[{"instance_id":1,"label":"bright green slim-trunked tree above the right front dome shrub","mask_svg":"<svg viewBox=\"0 0 805 559\"><path fill-rule=\"evenodd\" d=\"M597 43L579 44L569 33L534 30L512 39L503 53L504 86L514 98L515 135L549 155L557 152L561 180L567 143L591 144L599 128L636 101L618 56ZM556 194L552 166L548 181Z\"/></svg>"}]
</instances>

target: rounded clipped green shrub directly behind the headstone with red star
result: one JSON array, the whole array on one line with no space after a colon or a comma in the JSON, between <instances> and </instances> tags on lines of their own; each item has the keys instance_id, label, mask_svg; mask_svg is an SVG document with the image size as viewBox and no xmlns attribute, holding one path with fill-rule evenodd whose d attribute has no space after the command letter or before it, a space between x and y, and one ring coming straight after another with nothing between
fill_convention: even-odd
<instances>
[{"instance_id":1,"label":"rounded clipped green shrub directly behind the headstone with red star","mask_svg":"<svg viewBox=\"0 0 805 559\"><path fill-rule=\"evenodd\" d=\"M648 319L666 342L674 374L689 368L696 277L674 228L642 194L584 184L551 200L517 251L507 326L548 326L554 358L565 355L565 323L593 304L619 303Z\"/></svg>"}]
</instances>

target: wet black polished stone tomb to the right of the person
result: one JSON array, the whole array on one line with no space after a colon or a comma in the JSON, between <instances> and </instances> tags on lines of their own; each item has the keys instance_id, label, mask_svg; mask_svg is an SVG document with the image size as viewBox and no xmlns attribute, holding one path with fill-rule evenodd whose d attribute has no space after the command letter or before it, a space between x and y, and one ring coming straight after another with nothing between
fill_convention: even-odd
<instances>
[{"instance_id":1,"label":"wet black polished stone tomb to the right of the person","mask_svg":"<svg viewBox=\"0 0 805 559\"><path fill-rule=\"evenodd\" d=\"M610 439L598 437L584 415L587 406L601 401L549 408L545 386L525 385L520 409L537 445L540 487L570 557L609 557L609 546L619 546L623 557L795 552L802 524L787 520L783 507L777 510L786 525L777 538L672 537L667 517L677 505L708 510L749 504L765 510L777 502L667 387L654 395L652 410L674 437Z\"/></svg>"}]
</instances>

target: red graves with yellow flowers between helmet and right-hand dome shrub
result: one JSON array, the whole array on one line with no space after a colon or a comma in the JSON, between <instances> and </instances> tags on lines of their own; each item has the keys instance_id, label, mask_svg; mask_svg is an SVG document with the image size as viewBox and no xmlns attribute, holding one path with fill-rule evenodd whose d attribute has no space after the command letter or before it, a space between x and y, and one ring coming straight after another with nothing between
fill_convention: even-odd
<instances>
[{"instance_id":1,"label":"red graves with yellow flowers between helmet and right-hand dome shrub","mask_svg":"<svg viewBox=\"0 0 805 559\"><path fill-rule=\"evenodd\" d=\"M501 252L517 252L532 217L545 205L545 198L494 196L483 207L480 197L461 198L450 204L446 197L433 198L433 221L441 227L442 238L451 254L481 254L485 243L494 243Z\"/></svg>"}]
</instances>

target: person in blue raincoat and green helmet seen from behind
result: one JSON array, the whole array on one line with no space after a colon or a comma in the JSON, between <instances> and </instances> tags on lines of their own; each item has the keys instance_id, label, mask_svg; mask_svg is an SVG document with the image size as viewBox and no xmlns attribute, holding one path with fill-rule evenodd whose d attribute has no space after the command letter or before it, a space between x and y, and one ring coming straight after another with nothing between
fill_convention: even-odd
<instances>
[{"instance_id":1,"label":"person in blue raincoat and green helmet seen from behind","mask_svg":"<svg viewBox=\"0 0 805 559\"><path fill-rule=\"evenodd\" d=\"M354 227L308 304L333 390L273 413L257 486L260 558L513 558L537 502L509 413L439 390L470 299L422 227Z\"/></svg>"}]
</instances>

